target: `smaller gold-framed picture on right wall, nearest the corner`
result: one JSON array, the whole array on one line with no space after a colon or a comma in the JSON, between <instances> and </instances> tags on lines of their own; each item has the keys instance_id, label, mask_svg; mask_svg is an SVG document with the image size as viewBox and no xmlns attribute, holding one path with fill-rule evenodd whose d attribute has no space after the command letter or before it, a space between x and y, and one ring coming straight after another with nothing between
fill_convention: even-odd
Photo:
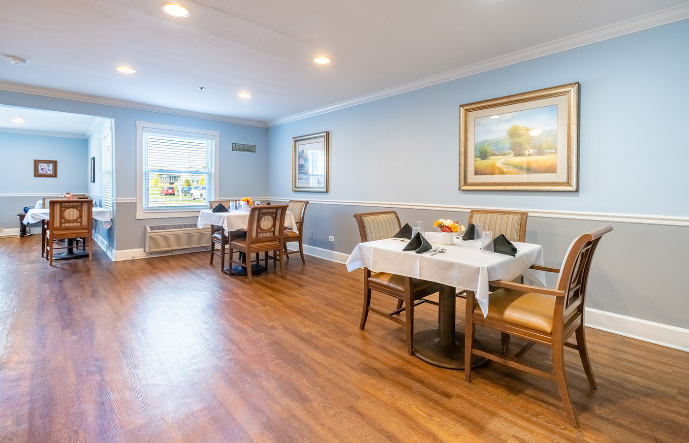
<instances>
[{"instance_id":1,"label":"smaller gold-framed picture on right wall, nearest the corner","mask_svg":"<svg viewBox=\"0 0 689 443\"><path fill-rule=\"evenodd\" d=\"M328 132L292 138L292 191L328 192Z\"/></svg>"}]
</instances>

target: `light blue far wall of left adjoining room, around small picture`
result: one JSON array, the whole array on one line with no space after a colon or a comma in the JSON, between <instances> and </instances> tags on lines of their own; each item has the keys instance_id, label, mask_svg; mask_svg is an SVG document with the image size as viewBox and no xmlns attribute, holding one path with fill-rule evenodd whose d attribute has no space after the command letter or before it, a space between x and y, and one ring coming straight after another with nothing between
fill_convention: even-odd
<instances>
[{"instance_id":1,"label":"light blue far wall of left adjoining room, around small picture","mask_svg":"<svg viewBox=\"0 0 689 443\"><path fill-rule=\"evenodd\" d=\"M83 138L0 132L0 226L19 227L17 214L24 206L33 206L39 196L85 193L86 155ZM34 177L34 159L56 160L57 177Z\"/></svg>"}]
</instances>

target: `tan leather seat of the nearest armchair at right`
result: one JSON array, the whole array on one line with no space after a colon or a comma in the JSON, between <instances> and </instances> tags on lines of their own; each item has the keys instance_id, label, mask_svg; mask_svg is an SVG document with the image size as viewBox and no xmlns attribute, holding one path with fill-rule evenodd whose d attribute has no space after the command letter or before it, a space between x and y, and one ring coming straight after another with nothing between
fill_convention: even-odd
<instances>
[{"instance_id":1,"label":"tan leather seat of the nearest armchair at right","mask_svg":"<svg viewBox=\"0 0 689 443\"><path fill-rule=\"evenodd\" d=\"M553 333L555 297L515 289L498 289L491 293L486 318L517 324L536 331ZM483 316L476 305L474 314Z\"/></svg>"}]
</instances>

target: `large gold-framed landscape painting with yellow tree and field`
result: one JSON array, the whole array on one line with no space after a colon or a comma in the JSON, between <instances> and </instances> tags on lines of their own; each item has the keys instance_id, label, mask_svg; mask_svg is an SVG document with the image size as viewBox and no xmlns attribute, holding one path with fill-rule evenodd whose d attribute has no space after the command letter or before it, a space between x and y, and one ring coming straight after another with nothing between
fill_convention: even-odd
<instances>
[{"instance_id":1,"label":"large gold-framed landscape painting with yellow tree and field","mask_svg":"<svg viewBox=\"0 0 689 443\"><path fill-rule=\"evenodd\" d=\"M460 190L577 191L579 83L460 106Z\"/></svg>"}]
</instances>

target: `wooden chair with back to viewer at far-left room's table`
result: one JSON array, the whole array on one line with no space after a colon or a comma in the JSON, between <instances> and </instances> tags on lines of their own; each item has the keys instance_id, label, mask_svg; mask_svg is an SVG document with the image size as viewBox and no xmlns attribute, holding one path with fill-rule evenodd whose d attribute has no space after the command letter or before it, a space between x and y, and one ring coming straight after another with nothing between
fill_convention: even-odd
<instances>
[{"instance_id":1,"label":"wooden chair with back to viewer at far-left room's table","mask_svg":"<svg viewBox=\"0 0 689 443\"><path fill-rule=\"evenodd\" d=\"M83 241L83 246L88 247L88 260L93 257L92 226L93 226L93 200L90 198L72 200L50 200L50 218L48 229L45 231L45 247L48 252L48 261L52 266L52 258L55 249L65 249L68 246L56 246L58 240ZM72 245L71 247L76 247Z\"/></svg>"}]
</instances>

